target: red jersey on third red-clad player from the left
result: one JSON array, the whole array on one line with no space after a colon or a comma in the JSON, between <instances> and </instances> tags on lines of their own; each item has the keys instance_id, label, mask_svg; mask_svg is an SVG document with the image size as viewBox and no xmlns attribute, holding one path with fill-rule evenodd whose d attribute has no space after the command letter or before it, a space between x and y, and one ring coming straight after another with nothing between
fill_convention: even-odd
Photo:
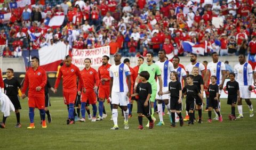
<instances>
[{"instance_id":1,"label":"red jersey on third red-clad player from the left","mask_svg":"<svg viewBox=\"0 0 256 150\"><path fill-rule=\"evenodd\" d=\"M87 89L93 90L94 86L99 86L99 76L95 69L89 68L86 70L85 68L80 72L81 76L84 80L84 86ZM81 90L81 83L78 84L78 90Z\"/></svg>"}]
</instances>

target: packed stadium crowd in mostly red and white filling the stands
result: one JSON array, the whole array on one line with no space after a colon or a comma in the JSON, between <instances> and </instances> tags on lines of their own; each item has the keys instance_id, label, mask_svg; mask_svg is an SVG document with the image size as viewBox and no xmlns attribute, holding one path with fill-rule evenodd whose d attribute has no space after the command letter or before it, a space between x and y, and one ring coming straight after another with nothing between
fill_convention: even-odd
<instances>
[{"instance_id":1,"label":"packed stadium crowd in mostly red and white filling the stands","mask_svg":"<svg viewBox=\"0 0 256 150\"><path fill-rule=\"evenodd\" d=\"M59 41L71 48L110 46L110 54L157 55L159 49L175 56L187 55L182 41L204 44L207 53L256 54L256 2L238 0L41 0L24 9L11 9L4 1L0 14L11 12L10 22L0 23L3 56L17 57L26 49L39 49ZM61 27L47 26L56 15L65 15ZM212 18L223 19L219 28ZM0 20L2 21L2 20ZM31 40L28 30L38 36Z\"/></svg>"}]
</instances>

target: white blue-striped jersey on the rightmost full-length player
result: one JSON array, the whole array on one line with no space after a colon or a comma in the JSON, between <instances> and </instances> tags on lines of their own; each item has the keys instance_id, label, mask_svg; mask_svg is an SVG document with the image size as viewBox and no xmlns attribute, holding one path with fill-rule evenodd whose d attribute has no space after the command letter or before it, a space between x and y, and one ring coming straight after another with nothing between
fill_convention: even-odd
<instances>
[{"instance_id":1,"label":"white blue-striped jersey on the rightmost full-length player","mask_svg":"<svg viewBox=\"0 0 256 150\"><path fill-rule=\"evenodd\" d=\"M244 64L236 64L234 67L234 73L236 74L236 81L239 85L251 86L252 85L252 66L245 62Z\"/></svg>"}]
</instances>

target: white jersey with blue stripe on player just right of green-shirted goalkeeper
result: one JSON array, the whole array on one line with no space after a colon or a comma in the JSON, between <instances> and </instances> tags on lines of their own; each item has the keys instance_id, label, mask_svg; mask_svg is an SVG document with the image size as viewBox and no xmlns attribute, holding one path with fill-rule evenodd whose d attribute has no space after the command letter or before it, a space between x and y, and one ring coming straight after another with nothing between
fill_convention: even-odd
<instances>
[{"instance_id":1,"label":"white jersey with blue stripe on player just right of green-shirted goalkeeper","mask_svg":"<svg viewBox=\"0 0 256 150\"><path fill-rule=\"evenodd\" d=\"M165 60L164 62L157 61L155 64L159 66L161 71L163 87L168 87L168 84L171 81L171 72L174 71L172 62ZM157 90L159 90L159 80L157 80Z\"/></svg>"}]
</instances>

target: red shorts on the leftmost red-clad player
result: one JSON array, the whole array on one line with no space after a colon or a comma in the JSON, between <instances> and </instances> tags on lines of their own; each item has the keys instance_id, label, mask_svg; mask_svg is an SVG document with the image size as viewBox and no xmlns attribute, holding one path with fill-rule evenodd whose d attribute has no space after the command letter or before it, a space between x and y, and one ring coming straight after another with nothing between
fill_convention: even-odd
<instances>
[{"instance_id":1,"label":"red shorts on the leftmost red-clad player","mask_svg":"<svg viewBox=\"0 0 256 150\"><path fill-rule=\"evenodd\" d=\"M37 108L37 109L44 109L45 108L45 101L44 95L42 96L28 96L28 106Z\"/></svg>"}]
</instances>

